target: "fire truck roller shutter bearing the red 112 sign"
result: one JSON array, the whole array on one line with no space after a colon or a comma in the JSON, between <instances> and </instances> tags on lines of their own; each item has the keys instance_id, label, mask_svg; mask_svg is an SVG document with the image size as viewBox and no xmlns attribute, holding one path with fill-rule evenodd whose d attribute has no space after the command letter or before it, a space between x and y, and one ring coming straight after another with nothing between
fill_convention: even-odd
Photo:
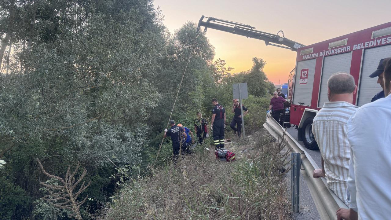
<instances>
[{"instance_id":1,"label":"fire truck roller shutter bearing the red 112 sign","mask_svg":"<svg viewBox=\"0 0 391 220\"><path fill-rule=\"evenodd\" d=\"M322 59L322 58L317 58ZM314 85L316 58L303 60L297 63L293 104L311 105L312 87ZM305 72L308 69L308 72ZM303 104L304 103L304 104Z\"/></svg>"}]
</instances>

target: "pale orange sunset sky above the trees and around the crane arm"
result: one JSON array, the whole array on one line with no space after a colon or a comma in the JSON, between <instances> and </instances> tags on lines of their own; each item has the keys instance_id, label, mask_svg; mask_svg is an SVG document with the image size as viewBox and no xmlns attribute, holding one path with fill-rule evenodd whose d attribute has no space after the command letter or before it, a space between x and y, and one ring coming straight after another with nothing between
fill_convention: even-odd
<instances>
[{"instance_id":1,"label":"pale orange sunset sky above the trees and around the crane arm","mask_svg":"<svg viewBox=\"0 0 391 220\"><path fill-rule=\"evenodd\" d=\"M305 45L391 21L390 0L154 0L154 4L160 7L170 32L187 21L198 23L204 15L248 24L272 34L282 30L286 38ZM282 84L294 68L294 51L213 29L208 29L206 36L215 47L215 59L226 60L235 68L233 72L250 69L253 57L263 58L268 78Z\"/></svg>"}]
</instances>

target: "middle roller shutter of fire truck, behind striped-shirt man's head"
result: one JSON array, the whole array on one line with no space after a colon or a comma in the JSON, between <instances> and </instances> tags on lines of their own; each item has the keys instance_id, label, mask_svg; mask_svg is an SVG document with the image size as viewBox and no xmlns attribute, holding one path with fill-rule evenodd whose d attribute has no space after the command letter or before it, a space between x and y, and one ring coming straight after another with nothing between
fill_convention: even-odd
<instances>
[{"instance_id":1,"label":"middle roller shutter of fire truck, behind striped-shirt man's head","mask_svg":"<svg viewBox=\"0 0 391 220\"><path fill-rule=\"evenodd\" d=\"M352 52L326 56L323 60L323 69L321 76L320 92L318 107L322 108L325 102L328 102L327 97L327 80L335 72L350 72L350 63L352 62Z\"/></svg>"}]
</instances>

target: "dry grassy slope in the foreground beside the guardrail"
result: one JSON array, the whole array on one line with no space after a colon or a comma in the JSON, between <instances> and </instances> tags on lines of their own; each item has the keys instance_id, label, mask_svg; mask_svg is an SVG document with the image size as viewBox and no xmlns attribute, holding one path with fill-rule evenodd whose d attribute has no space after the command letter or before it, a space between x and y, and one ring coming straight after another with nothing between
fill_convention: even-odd
<instances>
[{"instance_id":1,"label":"dry grassy slope in the foreground beside the guardrail","mask_svg":"<svg viewBox=\"0 0 391 220\"><path fill-rule=\"evenodd\" d=\"M289 219L287 185L278 170L289 163L288 153L264 131L253 144L253 150L235 152L234 162L205 150L134 180L99 219Z\"/></svg>"}]
</instances>

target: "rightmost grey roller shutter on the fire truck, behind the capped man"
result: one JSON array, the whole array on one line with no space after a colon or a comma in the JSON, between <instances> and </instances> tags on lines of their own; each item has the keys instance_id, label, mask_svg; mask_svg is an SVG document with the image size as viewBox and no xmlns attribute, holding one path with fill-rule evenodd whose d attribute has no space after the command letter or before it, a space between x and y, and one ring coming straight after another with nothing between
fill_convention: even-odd
<instances>
[{"instance_id":1,"label":"rightmost grey roller shutter on the fire truck, behind the capped man","mask_svg":"<svg viewBox=\"0 0 391 220\"><path fill-rule=\"evenodd\" d=\"M391 57L391 45L374 47L364 50L364 59L362 61L362 70L360 76L360 84L358 87L357 106L362 106L371 102L375 94L382 90L377 84L376 78L369 78L369 75L376 70L380 59Z\"/></svg>"}]
</instances>

